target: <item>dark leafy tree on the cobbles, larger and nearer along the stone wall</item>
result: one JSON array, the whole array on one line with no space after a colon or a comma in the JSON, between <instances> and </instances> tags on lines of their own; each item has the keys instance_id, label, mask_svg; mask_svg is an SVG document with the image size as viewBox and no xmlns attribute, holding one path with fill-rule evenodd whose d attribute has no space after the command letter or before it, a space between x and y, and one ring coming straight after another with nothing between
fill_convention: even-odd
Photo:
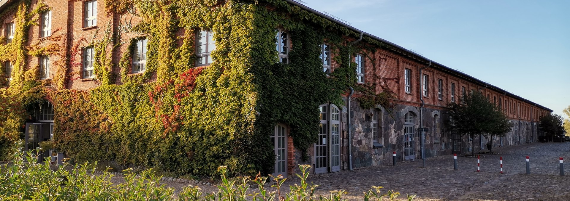
<instances>
[{"instance_id":1,"label":"dark leafy tree on the cobbles, larger and nearer along the stone wall","mask_svg":"<svg viewBox=\"0 0 570 201\"><path fill-rule=\"evenodd\" d=\"M504 135L511 131L511 124L506 115L495 104L489 102L481 93L464 94L458 103L449 103L451 129L457 129L460 135ZM475 143L471 144L471 155L475 155Z\"/></svg>"}]
</instances>

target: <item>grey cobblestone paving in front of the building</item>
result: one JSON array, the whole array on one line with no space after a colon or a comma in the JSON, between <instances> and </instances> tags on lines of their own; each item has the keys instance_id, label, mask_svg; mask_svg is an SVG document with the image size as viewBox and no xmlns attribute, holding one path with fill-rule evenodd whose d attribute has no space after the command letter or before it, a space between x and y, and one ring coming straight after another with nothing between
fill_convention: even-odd
<instances>
[{"instance_id":1,"label":"grey cobblestone paving in front of the building","mask_svg":"<svg viewBox=\"0 0 570 201\"><path fill-rule=\"evenodd\" d=\"M396 190L416 194L418 201L434 200L570 200L570 166L560 176L558 157L570 159L570 143L534 143L498 148L498 155L482 155L481 172L477 158L458 157L459 170L453 170L452 156L439 156L422 161L398 163L397 166L374 166L354 171L311 175L317 195L328 195L333 190L346 190L348 200L363 200L363 191L382 186L384 191ZM503 157L503 172L499 174L499 157ZM526 174L525 156L530 156L531 174ZM568 161L570 162L570 160ZM120 183L120 177L113 182ZM284 183L298 183L294 177ZM164 182L180 191L188 183ZM217 191L215 186L202 186L203 192Z\"/></svg>"}]
</instances>

